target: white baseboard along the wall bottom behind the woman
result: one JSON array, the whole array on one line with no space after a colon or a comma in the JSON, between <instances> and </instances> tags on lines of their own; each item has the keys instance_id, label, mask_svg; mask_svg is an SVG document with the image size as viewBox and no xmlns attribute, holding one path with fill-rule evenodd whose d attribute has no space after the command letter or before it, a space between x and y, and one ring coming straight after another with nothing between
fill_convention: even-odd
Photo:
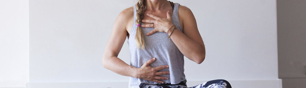
<instances>
[{"instance_id":1,"label":"white baseboard along the wall bottom behind the woman","mask_svg":"<svg viewBox=\"0 0 306 88\"><path fill-rule=\"evenodd\" d=\"M282 88L282 79L227 81L233 88ZM204 82L207 81L187 81L187 86ZM129 82L30 82L26 88L127 88L128 84Z\"/></svg>"}]
</instances>

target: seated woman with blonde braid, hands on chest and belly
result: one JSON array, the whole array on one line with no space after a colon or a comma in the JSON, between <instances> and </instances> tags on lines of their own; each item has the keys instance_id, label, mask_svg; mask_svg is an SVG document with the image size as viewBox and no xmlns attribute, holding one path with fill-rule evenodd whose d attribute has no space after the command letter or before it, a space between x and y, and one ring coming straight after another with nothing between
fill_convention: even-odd
<instances>
[{"instance_id":1,"label":"seated woman with blonde braid, hands on chest and belly","mask_svg":"<svg viewBox=\"0 0 306 88\"><path fill-rule=\"evenodd\" d=\"M130 65L117 57L126 37ZM115 20L103 66L129 76L129 88L186 88L184 56L197 64L205 58L204 43L191 10L167 0L139 0ZM221 79L192 88L206 87L231 88Z\"/></svg>"}]
</instances>

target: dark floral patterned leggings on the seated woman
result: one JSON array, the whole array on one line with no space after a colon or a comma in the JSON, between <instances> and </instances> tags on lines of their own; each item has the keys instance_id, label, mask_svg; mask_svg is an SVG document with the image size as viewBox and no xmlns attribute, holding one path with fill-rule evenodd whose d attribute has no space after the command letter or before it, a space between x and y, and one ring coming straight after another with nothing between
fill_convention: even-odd
<instances>
[{"instance_id":1,"label":"dark floral patterned leggings on the seated woman","mask_svg":"<svg viewBox=\"0 0 306 88\"><path fill-rule=\"evenodd\" d=\"M184 85L150 85L140 84L140 88L232 88L229 82L223 79L211 80L202 84L186 87L186 81L182 82Z\"/></svg>"}]
</instances>

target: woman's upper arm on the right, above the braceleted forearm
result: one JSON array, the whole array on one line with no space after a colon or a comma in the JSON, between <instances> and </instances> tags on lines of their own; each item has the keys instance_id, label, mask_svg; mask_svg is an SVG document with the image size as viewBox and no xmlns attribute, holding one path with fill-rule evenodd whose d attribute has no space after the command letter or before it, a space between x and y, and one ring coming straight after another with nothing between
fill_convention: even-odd
<instances>
[{"instance_id":1,"label":"woman's upper arm on the right, above the braceleted forearm","mask_svg":"<svg viewBox=\"0 0 306 88\"><path fill-rule=\"evenodd\" d=\"M179 17L183 19L183 33L192 40L198 42L205 50L204 42L198 30L196 19L192 11L186 6L179 5L178 13Z\"/></svg>"}]
</instances>

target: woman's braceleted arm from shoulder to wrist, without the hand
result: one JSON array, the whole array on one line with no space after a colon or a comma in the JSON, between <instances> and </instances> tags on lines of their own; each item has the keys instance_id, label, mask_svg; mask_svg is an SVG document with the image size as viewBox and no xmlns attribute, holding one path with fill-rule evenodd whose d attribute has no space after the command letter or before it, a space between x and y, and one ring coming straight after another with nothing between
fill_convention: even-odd
<instances>
[{"instance_id":1,"label":"woman's braceleted arm from shoulder to wrist, without the hand","mask_svg":"<svg viewBox=\"0 0 306 88\"><path fill-rule=\"evenodd\" d=\"M191 10L185 6L179 6L179 14L183 19L184 33L174 29L171 39L188 59L201 64L205 59L205 46L198 31L196 19Z\"/></svg>"}]
</instances>

